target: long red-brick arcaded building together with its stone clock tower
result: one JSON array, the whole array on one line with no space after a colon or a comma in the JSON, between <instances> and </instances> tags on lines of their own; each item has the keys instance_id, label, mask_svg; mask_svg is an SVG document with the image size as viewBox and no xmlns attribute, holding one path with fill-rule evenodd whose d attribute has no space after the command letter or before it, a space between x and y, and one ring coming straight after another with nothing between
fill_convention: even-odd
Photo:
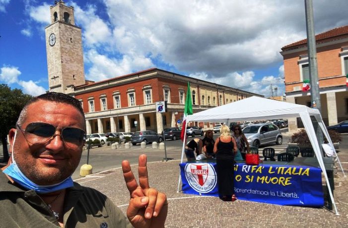
<instances>
[{"instance_id":1,"label":"long red-brick arcaded building together with its stone clock tower","mask_svg":"<svg viewBox=\"0 0 348 228\"><path fill-rule=\"evenodd\" d=\"M81 101L87 134L130 132L175 127L182 122L187 82L191 84L194 113L258 94L152 68L93 82L84 78L81 28L75 26L73 7L56 1L45 28L50 91ZM167 101L168 112L156 113L155 103ZM178 121L180 120L180 121ZM202 128L209 123L191 123Z\"/></svg>"}]
</instances>

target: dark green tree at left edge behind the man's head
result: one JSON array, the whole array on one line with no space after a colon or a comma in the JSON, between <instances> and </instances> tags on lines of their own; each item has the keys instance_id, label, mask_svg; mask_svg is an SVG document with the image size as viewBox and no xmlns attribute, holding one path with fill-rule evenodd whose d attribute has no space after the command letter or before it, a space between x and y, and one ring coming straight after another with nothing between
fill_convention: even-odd
<instances>
[{"instance_id":1,"label":"dark green tree at left edge behind the man's head","mask_svg":"<svg viewBox=\"0 0 348 228\"><path fill-rule=\"evenodd\" d=\"M9 88L6 84L0 84L0 139L3 151L3 162L9 159L7 150L7 134L15 127L16 121L24 105L32 97L23 94L20 89Z\"/></svg>"}]
</instances>

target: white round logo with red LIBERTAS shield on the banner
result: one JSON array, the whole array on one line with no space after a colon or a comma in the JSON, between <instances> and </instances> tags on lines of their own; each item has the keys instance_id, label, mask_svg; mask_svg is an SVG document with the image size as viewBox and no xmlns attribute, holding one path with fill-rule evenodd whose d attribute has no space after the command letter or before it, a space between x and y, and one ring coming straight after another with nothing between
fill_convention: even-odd
<instances>
[{"instance_id":1,"label":"white round logo with red LIBERTAS shield on the banner","mask_svg":"<svg viewBox=\"0 0 348 228\"><path fill-rule=\"evenodd\" d=\"M216 172L211 164L186 164L185 175L190 186L200 193L207 193L216 185Z\"/></svg>"}]
</instances>

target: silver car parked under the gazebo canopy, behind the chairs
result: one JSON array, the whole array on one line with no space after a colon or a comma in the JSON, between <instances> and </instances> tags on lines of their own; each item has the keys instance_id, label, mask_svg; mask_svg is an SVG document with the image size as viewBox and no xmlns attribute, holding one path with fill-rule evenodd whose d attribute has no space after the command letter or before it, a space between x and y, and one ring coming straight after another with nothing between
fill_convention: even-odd
<instances>
[{"instance_id":1,"label":"silver car parked under the gazebo canopy, behind the chairs","mask_svg":"<svg viewBox=\"0 0 348 228\"><path fill-rule=\"evenodd\" d=\"M280 129L272 123L257 123L246 126L243 133L251 146L276 143L282 144L283 137Z\"/></svg>"}]
</instances>

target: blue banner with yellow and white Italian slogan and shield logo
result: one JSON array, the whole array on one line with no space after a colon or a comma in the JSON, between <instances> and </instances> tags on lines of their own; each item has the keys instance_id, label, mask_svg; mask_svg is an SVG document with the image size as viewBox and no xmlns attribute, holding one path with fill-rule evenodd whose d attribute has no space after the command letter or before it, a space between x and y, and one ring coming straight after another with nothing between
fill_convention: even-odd
<instances>
[{"instance_id":1,"label":"blue banner with yellow and white Italian slogan and shield logo","mask_svg":"<svg viewBox=\"0 0 348 228\"><path fill-rule=\"evenodd\" d=\"M181 163L183 193L218 196L215 163ZM278 205L324 205L321 169L305 166L234 166L238 199Z\"/></svg>"}]
</instances>

